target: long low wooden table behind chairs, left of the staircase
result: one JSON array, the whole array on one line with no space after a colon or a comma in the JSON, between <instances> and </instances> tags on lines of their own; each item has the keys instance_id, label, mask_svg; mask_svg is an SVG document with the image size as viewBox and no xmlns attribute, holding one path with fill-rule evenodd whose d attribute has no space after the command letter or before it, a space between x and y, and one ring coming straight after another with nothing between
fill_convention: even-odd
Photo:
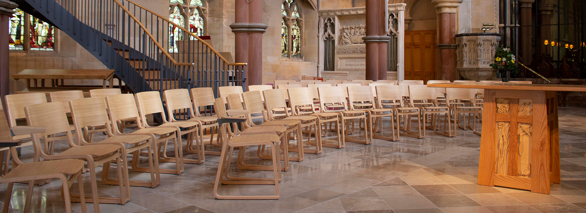
<instances>
[{"instance_id":1,"label":"long low wooden table behind chairs, left of the staircase","mask_svg":"<svg viewBox=\"0 0 586 213\"><path fill-rule=\"evenodd\" d=\"M13 74L14 91L16 93L30 92L55 92L59 90L83 90L87 92L90 89L96 89L95 86L64 85L63 79L100 79L103 81L102 88L107 88L110 82L110 88L114 85L114 69L25 69L18 74ZM26 89L23 91L16 90L19 79L26 79ZM30 80L33 80L33 86ZM45 86L45 81L41 81L39 86L37 79L52 79L51 86ZM59 81L60 84L59 85Z\"/></svg>"}]
</instances>

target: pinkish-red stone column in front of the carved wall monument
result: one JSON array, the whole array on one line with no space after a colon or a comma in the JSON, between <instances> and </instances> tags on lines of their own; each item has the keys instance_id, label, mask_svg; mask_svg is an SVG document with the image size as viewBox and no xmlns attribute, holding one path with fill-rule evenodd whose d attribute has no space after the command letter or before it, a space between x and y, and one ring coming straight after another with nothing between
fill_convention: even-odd
<instances>
[{"instance_id":1,"label":"pinkish-red stone column in front of the carved wall monument","mask_svg":"<svg viewBox=\"0 0 586 213\"><path fill-rule=\"evenodd\" d=\"M387 79L387 2L366 0L366 80Z\"/></svg>"}]
</instances>

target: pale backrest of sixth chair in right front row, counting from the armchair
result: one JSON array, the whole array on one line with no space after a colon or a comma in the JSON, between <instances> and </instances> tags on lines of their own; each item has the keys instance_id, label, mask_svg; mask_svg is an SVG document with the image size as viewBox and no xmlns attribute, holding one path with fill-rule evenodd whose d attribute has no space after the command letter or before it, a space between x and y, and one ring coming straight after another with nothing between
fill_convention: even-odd
<instances>
[{"instance_id":1,"label":"pale backrest of sixth chair in right front row, counting from the armchair","mask_svg":"<svg viewBox=\"0 0 586 213\"><path fill-rule=\"evenodd\" d=\"M346 101L346 96L344 96L344 89L346 88L342 88L341 86L318 88L319 106L322 112L346 111L348 102ZM338 109L333 109L329 107L331 105L339 105L339 107L336 107Z\"/></svg>"}]
</instances>

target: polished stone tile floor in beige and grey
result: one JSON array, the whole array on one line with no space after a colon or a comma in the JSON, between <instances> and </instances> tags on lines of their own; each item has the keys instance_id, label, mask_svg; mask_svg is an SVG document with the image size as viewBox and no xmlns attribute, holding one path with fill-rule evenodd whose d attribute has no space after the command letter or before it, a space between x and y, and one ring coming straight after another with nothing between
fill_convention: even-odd
<instances>
[{"instance_id":1,"label":"polished stone tile floor in beige and grey","mask_svg":"<svg viewBox=\"0 0 586 213\"><path fill-rule=\"evenodd\" d=\"M100 204L100 208L107 213L586 212L586 109L561 107L559 114L562 183L552 184L549 195L477 185L480 137L460 130L454 138L428 131L423 139L374 139L371 145L347 142L342 149L323 148L320 155L306 154L305 160L291 162L291 169L283 173L279 200L215 200L212 188L219 158L207 155L202 165L186 164L185 173L179 176L161 174L162 183L156 188L131 187L132 198L125 205ZM32 151L23 150L25 160L31 155ZM250 162L264 163L254 159L253 148L247 156ZM272 177L253 170L231 173ZM131 178L148 180L149 176L132 172ZM101 195L119 194L117 186L98 187ZM5 188L6 184L0 184L0 190ZM263 195L273 190L274 186L224 185L219 193ZM90 187L85 191L90 193ZM25 193L25 184L15 184L11 212L23 211ZM36 187L34 193L33 212L64 212L59 180ZM0 191L0 201L4 196L5 191ZM87 204L88 212L93 212L91 205ZM73 204L73 209L80 212L80 204Z\"/></svg>"}]
</instances>

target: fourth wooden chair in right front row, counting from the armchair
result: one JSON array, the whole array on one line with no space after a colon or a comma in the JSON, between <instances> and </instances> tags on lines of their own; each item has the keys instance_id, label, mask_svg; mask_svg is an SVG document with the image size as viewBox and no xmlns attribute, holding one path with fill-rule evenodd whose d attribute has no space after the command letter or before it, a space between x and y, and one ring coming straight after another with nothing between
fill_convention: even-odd
<instances>
[{"instance_id":1,"label":"fourth wooden chair in right front row, counting from the armchair","mask_svg":"<svg viewBox=\"0 0 586 213\"><path fill-rule=\"evenodd\" d=\"M301 122L301 128L309 128L308 131L308 136L307 136L307 144L308 145L314 145L314 146L319 146L319 143L321 142L321 137L318 136L318 131L316 131L315 134L315 141L311 142L311 134L312 131L311 129L313 127L317 128L318 126L318 117L316 116L293 116L292 111L289 112L289 110L287 110L287 103L285 102L285 96L283 94L282 89L271 89L271 90L264 90L263 91L263 95L264 95L264 104L265 104L265 108L267 109L267 118L268 120L272 121L272 120L280 120L280 119L292 119L292 120L298 120L299 122ZM288 95L287 95L288 96ZM290 98L290 97L289 97ZM303 138L297 138L297 146L304 146L304 142L303 142ZM315 150L309 150L309 149L303 149L303 152L305 153L314 153L314 154L319 154L321 153L321 149L315 149ZM302 153L299 153L299 158L301 158Z\"/></svg>"}]
</instances>

